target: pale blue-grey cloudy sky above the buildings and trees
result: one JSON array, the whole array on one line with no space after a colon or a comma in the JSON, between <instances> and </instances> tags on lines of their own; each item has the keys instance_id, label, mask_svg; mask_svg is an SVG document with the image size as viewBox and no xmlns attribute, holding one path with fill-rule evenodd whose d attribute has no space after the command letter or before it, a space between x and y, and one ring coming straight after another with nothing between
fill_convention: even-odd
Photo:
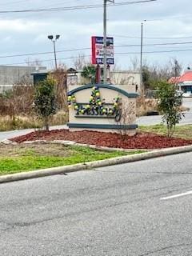
<instances>
[{"instance_id":1,"label":"pale blue-grey cloudy sky above the buildings and trees","mask_svg":"<svg viewBox=\"0 0 192 256\"><path fill-rule=\"evenodd\" d=\"M137 1L137 0L136 0ZM133 2L132 0L115 0ZM0 11L31 10L67 6L102 4L103 0L0 0ZM107 34L114 36L115 62L123 70L131 59L140 58L141 22L143 24L143 58L147 64L163 65L178 58L183 68L192 66L192 1L157 0L107 8ZM53 51L48 34L60 34L56 42L58 62L73 66L79 54L90 55L90 37L102 36L102 7L51 12L0 12L0 64L25 66L27 59L42 60L48 69L54 67L54 54L6 57ZM180 44L171 44L171 43ZM168 45L161 45L161 44ZM160 44L156 46L145 46ZM136 45L136 46L130 46ZM63 51L68 50L68 51ZM59 52L60 51L60 52ZM148 53L146 53L148 52ZM151 53L153 52L153 53ZM155 53L156 52L156 53ZM89 58L89 57L88 57ZM50 61L46 61L50 60Z\"/></svg>"}]
</instances>

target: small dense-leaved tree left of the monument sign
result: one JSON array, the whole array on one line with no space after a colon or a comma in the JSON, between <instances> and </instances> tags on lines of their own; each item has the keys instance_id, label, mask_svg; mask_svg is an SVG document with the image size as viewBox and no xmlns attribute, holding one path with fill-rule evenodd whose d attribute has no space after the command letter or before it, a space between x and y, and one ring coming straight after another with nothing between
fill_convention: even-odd
<instances>
[{"instance_id":1,"label":"small dense-leaved tree left of the monument sign","mask_svg":"<svg viewBox=\"0 0 192 256\"><path fill-rule=\"evenodd\" d=\"M42 118L46 130L49 130L50 117L56 114L56 94L54 79L47 78L34 88L34 110Z\"/></svg>"}]
</instances>

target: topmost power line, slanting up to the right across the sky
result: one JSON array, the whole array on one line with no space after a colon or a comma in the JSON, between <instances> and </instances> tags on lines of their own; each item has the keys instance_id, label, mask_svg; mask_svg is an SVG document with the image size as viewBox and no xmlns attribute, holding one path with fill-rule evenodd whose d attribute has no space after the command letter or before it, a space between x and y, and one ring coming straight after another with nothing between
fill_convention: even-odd
<instances>
[{"instance_id":1,"label":"topmost power line, slanting up to the right across the sky","mask_svg":"<svg viewBox=\"0 0 192 256\"><path fill-rule=\"evenodd\" d=\"M108 4L107 6L126 6L132 5L137 3L144 3L144 2L155 2L157 0L140 0L140 1L131 1L131 2L118 2ZM103 5L96 4L96 5L83 5L83 6L63 6L63 7L56 7L56 8L42 8L42 9L28 9L28 10L0 10L0 14L15 14L15 13L31 13L31 12L50 12L50 11L64 11L64 10L82 10L82 9L93 9L93 8L101 8Z\"/></svg>"}]
</instances>

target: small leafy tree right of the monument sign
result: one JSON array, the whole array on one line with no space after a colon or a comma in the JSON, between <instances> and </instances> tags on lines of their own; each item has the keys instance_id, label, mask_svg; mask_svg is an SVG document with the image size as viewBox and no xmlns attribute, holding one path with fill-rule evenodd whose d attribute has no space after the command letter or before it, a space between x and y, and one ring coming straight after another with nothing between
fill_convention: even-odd
<instances>
[{"instance_id":1,"label":"small leafy tree right of the monument sign","mask_svg":"<svg viewBox=\"0 0 192 256\"><path fill-rule=\"evenodd\" d=\"M177 94L174 85L167 82L158 82L158 110L162 113L162 122L166 122L167 137L174 134L176 124L181 121L182 94Z\"/></svg>"}]
</instances>

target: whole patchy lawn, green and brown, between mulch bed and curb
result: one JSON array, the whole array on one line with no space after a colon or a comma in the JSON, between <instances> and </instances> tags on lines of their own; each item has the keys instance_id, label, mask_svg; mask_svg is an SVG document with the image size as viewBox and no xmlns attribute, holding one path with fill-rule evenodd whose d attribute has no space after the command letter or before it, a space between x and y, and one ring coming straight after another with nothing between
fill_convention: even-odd
<instances>
[{"instance_id":1,"label":"whole patchy lawn, green and brown, between mulch bed and curb","mask_svg":"<svg viewBox=\"0 0 192 256\"><path fill-rule=\"evenodd\" d=\"M143 150L106 152L83 146L64 146L48 143L0 144L0 175L56 166L68 166L79 162L90 162L142 152Z\"/></svg>"}]
</instances>

